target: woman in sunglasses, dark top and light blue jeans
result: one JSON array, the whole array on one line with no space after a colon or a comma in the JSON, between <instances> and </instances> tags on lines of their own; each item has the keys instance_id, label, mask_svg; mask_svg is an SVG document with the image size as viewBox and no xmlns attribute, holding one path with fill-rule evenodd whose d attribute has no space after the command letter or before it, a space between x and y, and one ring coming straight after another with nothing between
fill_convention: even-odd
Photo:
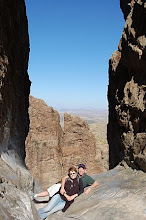
<instances>
[{"instance_id":1,"label":"woman in sunglasses, dark top and light blue jeans","mask_svg":"<svg viewBox=\"0 0 146 220\"><path fill-rule=\"evenodd\" d=\"M55 194L49 203L38 210L39 216L42 219L47 218L50 214L62 210L65 212L67 208L74 202L74 199L83 193L83 183L81 179L77 179L77 170L75 167L70 167L68 170L68 178L65 182L65 192L62 195L60 192Z\"/></svg>"}]
</instances>

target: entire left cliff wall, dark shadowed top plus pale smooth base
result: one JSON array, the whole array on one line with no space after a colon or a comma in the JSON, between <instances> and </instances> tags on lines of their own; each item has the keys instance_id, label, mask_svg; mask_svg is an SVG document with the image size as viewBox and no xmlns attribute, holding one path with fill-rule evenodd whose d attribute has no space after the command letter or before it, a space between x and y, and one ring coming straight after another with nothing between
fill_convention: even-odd
<instances>
[{"instance_id":1,"label":"entire left cliff wall, dark shadowed top plus pale smooth base","mask_svg":"<svg viewBox=\"0 0 146 220\"><path fill-rule=\"evenodd\" d=\"M23 0L0 1L0 219L38 219L22 165L28 133L29 37Z\"/></svg>"}]
</instances>

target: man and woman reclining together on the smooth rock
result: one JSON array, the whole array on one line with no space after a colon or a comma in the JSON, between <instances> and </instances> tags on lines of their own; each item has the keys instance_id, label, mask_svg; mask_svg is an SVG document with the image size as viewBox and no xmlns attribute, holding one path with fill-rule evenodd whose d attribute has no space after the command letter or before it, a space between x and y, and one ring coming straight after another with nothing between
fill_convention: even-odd
<instances>
[{"instance_id":1,"label":"man and woman reclining together on the smooth rock","mask_svg":"<svg viewBox=\"0 0 146 220\"><path fill-rule=\"evenodd\" d=\"M34 195L34 199L38 197L49 196L51 200L48 204L38 210L39 216L42 219L47 218L50 214L62 210L65 212L67 208L74 202L74 199L84 192L88 194L92 188L98 183L86 174L86 166L79 164L78 173L75 167L68 170L68 175L62 178L61 183L54 184L47 191Z\"/></svg>"}]
</instances>

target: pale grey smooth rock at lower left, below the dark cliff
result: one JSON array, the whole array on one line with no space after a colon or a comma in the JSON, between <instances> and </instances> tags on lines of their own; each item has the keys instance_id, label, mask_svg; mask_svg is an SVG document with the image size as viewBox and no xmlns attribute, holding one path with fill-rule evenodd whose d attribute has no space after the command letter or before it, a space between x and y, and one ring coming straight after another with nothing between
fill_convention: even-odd
<instances>
[{"instance_id":1,"label":"pale grey smooth rock at lower left, below the dark cliff","mask_svg":"<svg viewBox=\"0 0 146 220\"><path fill-rule=\"evenodd\" d=\"M33 178L8 154L0 158L0 220L39 220L30 192Z\"/></svg>"}]
</instances>

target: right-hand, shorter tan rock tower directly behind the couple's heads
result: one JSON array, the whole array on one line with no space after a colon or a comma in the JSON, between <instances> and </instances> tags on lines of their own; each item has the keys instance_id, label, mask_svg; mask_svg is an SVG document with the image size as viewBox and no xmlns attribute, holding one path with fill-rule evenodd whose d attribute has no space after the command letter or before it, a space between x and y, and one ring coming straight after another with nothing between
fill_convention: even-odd
<instances>
[{"instance_id":1,"label":"right-hand, shorter tan rock tower directly behind the couple's heads","mask_svg":"<svg viewBox=\"0 0 146 220\"><path fill-rule=\"evenodd\" d=\"M88 124L77 116L64 114L63 171L71 165L85 163L89 174L101 172L96 161L96 141Z\"/></svg>"}]
</instances>

